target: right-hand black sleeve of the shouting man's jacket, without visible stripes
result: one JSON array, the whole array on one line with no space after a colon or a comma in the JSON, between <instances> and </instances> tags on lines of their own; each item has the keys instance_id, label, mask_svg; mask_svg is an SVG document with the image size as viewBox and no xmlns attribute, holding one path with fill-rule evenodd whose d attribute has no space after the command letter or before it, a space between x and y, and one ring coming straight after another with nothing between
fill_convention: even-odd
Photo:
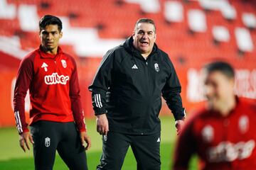
<instances>
[{"instance_id":1,"label":"right-hand black sleeve of the shouting man's jacket, without visible stripes","mask_svg":"<svg viewBox=\"0 0 256 170\"><path fill-rule=\"evenodd\" d=\"M171 109L171 112L174 114L175 120L182 120L185 118L185 108L182 106L181 100L181 84L178 80L178 76L174 69L174 65L171 63L169 57L166 57L166 62L169 64L171 74L166 80L166 84L162 89L162 95L164 100L166 100L167 106Z\"/></svg>"}]
</instances>

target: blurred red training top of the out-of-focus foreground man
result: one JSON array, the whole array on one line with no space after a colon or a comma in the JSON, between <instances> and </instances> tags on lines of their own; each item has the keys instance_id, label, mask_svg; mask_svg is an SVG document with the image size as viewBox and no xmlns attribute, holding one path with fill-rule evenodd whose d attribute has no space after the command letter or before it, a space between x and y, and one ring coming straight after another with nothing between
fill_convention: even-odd
<instances>
[{"instance_id":1,"label":"blurred red training top of the out-of-focus foreground man","mask_svg":"<svg viewBox=\"0 0 256 170\"><path fill-rule=\"evenodd\" d=\"M188 169L192 154L201 169L256 169L256 105L238 98L229 115L201 109L181 130L174 158L174 170Z\"/></svg>"}]
</instances>

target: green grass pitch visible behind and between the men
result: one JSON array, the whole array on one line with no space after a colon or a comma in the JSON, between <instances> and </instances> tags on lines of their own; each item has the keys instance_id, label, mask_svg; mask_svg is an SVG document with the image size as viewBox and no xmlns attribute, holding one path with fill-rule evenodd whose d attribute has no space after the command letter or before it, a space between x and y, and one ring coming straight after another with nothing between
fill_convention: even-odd
<instances>
[{"instance_id":1,"label":"green grass pitch visible behind and between the men","mask_svg":"<svg viewBox=\"0 0 256 170\"><path fill-rule=\"evenodd\" d=\"M95 169L99 164L102 143L101 136L95 130L95 119L87 120L87 129L92 140L92 147L87 152L87 163L89 169ZM169 116L161 117L161 169L170 169L172 164L174 146L176 141L176 130L174 119ZM32 146L31 146L32 147ZM190 169L197 169L196 159L191 162ZM24 153L18 145L18 134L15 128L0 129L0 169L1 170L32 170L33 152ZM56 156L54 170L68 169L60 157ZM124 170L136 169L136 161L129 149L124 159Z\"/></svg>"}]
</instances>

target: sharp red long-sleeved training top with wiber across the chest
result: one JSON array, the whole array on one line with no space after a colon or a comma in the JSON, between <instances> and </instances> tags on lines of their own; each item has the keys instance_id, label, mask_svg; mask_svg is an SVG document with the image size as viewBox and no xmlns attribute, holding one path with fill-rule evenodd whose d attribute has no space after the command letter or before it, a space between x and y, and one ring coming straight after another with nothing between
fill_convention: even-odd
<instances>
[{"instance_id":1,"label":"sharp red long-sleeved training top with wiber across the chest","mask_svg":"<svg viewBox=\"0 0 256 170\"><path fill-rule=\"evenodd\" d=\"M57 55L43 52L39 47L21 61L14 89L14 115L19 134L28 132L24 108L28 89L30 125L38 120L75 121L78 130L85 131L75 60L60 47Z\"/></svg>"}]
</instances>

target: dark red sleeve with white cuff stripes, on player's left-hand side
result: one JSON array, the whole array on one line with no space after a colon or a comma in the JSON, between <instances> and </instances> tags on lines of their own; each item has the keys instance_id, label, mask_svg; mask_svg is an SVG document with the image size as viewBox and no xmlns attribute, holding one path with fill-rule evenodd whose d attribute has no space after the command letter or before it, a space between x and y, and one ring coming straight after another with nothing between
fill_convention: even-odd
<instances>
[{"instance_id":1,"label":"dark red sleeve with white cuff stripes, on player's left-hand side","mask_svg":"<svg viewBox=\"0 0 256 170\"><path fill-rule=\"evenodd\" d=\"M28 123L25 118L25 97L33 77L32 57L21 61L14 89L14 116L18 133L28 132Z\"/></svg>"}]
</instances>

